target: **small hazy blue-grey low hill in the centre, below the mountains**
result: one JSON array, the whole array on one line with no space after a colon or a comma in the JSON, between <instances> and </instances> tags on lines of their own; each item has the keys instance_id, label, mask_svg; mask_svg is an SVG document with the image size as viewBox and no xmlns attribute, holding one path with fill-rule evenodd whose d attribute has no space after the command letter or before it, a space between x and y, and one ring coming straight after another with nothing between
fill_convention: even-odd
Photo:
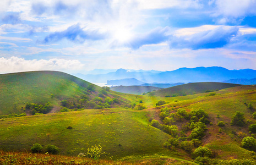
<instances>
[{"instance_id":1,"label":"small hazy blue-grey low hill in the centre, below the mountains","mask_svg":"<svg viewBox=\"0 0 256 165\"><path fill-rule=\"evenodd\" d=\"M151 91L160 90L160 87L154 87L154 86L116 86L111 87L112 91L116 92L122 92L125 94L135 94L135 95L141 95L143 93L148 93Z\"/></svg>"}]
</instances>

